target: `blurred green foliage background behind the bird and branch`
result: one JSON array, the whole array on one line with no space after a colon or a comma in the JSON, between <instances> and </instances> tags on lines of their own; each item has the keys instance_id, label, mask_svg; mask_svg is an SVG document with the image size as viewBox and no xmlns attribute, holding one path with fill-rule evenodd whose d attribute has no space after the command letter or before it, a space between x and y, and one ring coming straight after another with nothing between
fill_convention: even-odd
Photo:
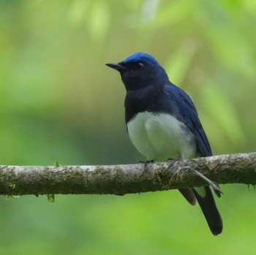
<instances>
[{"instance_id":1,"label":"blurred green foliage background behind the bird and branch","mask_svg":"<svg viewBox=\"0 0 256 255\"><path fill-rule=\"evenodd\" d=\"M255 151L256 1L0 1L0 164L128 164L124 85L154 55L192 96L214 154ZM255 190L222 185L214 237L177 191L0 198L0 254L253 254Z\"/></svg>"}]
</instances>

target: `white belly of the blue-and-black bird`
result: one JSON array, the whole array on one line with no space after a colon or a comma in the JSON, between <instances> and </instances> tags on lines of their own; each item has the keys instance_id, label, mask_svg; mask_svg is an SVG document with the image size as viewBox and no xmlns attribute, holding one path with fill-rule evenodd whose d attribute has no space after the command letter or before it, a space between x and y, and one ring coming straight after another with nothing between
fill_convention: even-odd
<instances>
[{"instance_id":1,"label":"white belly of the blue-and-black bird","mask_svg":"<svg viewBox=\"0 0 256 255\"><path fill-rule=\"evenodd\" d=\"M138 113L127 123L127 129L132 144L148 160L195 156L193 134L184 123L167 113Z\"/></svg>"}]
</instances>

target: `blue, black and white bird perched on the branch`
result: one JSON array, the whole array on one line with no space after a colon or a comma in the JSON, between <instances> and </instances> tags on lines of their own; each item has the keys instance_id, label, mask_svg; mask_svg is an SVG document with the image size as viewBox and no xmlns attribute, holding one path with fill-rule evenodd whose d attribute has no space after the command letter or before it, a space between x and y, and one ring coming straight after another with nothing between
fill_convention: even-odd
<instances>
[{"instance_id":1,"label":"blue, black and white bird perched on the branch","mask_svg":"<svg viewBox=\"0 0 256 255\"><path fill-rule=\"evenodd\" d=\"M184 90L170 82L154 56L137 52L121 62L106 65L121 75L127 91L124 99L127 132L147 161L212 156L195 104ZM219 235L222 217L210 187L179 191L191 205L199 203L212 234Z\"/></svg>"}]
</instances>

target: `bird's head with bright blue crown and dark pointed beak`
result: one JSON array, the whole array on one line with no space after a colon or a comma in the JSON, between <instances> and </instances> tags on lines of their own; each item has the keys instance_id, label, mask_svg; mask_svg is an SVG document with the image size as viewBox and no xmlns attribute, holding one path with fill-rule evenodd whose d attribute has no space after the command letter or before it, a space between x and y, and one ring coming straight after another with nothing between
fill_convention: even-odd
<instances>
[{"instance_id":1,"label":"bird's head with bright blue crown and dark pointed beak","mask_svg":"<svg viewBox=\"0 0 256 255\"><path fill-rule=\"evenodd\" d=\"M168 80L165 69L147 53L134 53L121 62L107 63L106 65L120 72L121 80L127 91Z\"/></svg>"}]
</instances>

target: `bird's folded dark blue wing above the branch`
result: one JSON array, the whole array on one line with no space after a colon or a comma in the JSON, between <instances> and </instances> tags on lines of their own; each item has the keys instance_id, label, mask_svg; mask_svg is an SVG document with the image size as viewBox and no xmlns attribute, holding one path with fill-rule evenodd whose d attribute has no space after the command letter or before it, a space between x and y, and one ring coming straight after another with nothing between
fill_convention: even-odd
<instances>
[{"instance_id":1,"label":"bird's folded dark blue wing above the branch","mask_svg":"<svg viewBox=\"0 0 256 255\"><path fill-rule=\"evenodd\" d=\"M203 130L197 115L197 110L189 95L176 85L167 84L164 86L165 95L172 101L172 105L177 107L176 115L183 121L191 132L195 135L197 142L197 153L200 156L212 156L211 146ZM171 110L173 111L173 110Z\"/></svg>"}]
</instances>

